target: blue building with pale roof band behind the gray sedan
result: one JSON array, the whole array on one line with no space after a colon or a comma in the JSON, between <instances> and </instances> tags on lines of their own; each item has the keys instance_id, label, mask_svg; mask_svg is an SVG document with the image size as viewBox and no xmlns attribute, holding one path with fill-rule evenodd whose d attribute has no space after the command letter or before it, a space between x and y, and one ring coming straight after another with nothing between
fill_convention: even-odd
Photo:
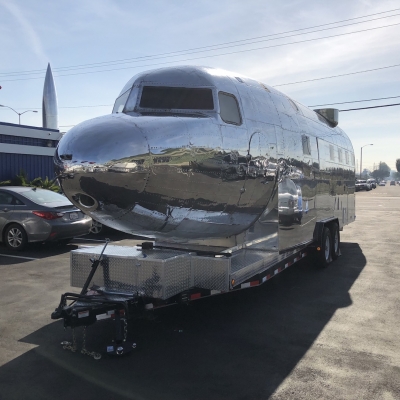
<instances>
[{"instance_id":1,"label":"blue building with pale roof band behind the gray sedan","mask_svg":"<svg viewBox=\"0 0 400 400\"><path fill-rule=\"evenodd\" d=\"M24 170L29 179L55 177L53 156L61 132L0 122L0 181Z\"/></svg>"}]
</instances>

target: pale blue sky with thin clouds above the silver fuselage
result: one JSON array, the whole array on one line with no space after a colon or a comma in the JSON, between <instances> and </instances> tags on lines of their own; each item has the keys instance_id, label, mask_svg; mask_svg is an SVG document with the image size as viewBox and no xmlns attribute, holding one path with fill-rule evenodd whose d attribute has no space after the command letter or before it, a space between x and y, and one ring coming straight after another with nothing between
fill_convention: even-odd
<instances>
[{"instance_id":1,"label":"pale blue sky with thin clouds above the silver fuselage","mask_svg":"<svg viewBox=\"0 0 400 400\"><path fill-rule=\"evenodd\" d=\"M198 49L228 42L236 43ZM21 122L41 126L50 62L62 131L110 113L134 74L168 65L235 71L309 106L400 96L400 2L392 0L0 0L0 48L0 104L36 109ZM160 57L187 49L197 50ZM103 64L87 65L95 63ZM378 70L282 85L370 69ZM394 103L400 97L332 107ZM0 108L0 121L18 123L18 115ZM384 161L395 169L400 106L342 112L339 125L358 163L361 146L374 144L363 149L363 167Z\"/></svg>"}]
</instances>

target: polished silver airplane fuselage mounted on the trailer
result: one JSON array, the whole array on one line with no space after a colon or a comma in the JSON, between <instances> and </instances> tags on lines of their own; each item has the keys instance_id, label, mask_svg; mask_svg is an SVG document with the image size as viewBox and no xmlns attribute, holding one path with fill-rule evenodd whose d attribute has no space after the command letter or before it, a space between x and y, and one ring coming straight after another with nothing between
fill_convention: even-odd
<instances>
[{"instance_id":1,"label":"polished silver airplane fuselage mounted on the trailer","mask_svg":"<svg viewBox=\"0 0 400 400\"><path fill-rule=\"evenodd\" d=\"M146 110L144 86L212 90L212 110ZM235 96L240 122L221 118ZM213 68L174 67L132 78L111 115L60 141L67 197L113 228L173 246L285 250L315 222L354 220L354 152L322 116L258 81Z\"/></svg>"}]
</instances>

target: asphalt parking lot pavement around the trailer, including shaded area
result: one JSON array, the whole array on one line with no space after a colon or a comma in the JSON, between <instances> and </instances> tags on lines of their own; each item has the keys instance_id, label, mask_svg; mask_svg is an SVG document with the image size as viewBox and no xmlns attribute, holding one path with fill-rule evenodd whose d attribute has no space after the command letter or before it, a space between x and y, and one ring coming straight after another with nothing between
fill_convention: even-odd
<instances>
[{"instance_id":1,"label":"asphalt parking lot pavement around the trailer, including shaded area","mask_svg":"<svg viewBox=\"0 0 400 400\"><path fill-rule=\"evenodd\" d=\"M160 310L129 326L134 352L99 361L63 350L71 330L50 314L76 291L72 249L135 238L0 245L0 399L400 399L399 204L399 186L358 192L328 268L303 260L259 287ZM86 336L98 350L112 326Z\"/></svg>"}]
</instances>

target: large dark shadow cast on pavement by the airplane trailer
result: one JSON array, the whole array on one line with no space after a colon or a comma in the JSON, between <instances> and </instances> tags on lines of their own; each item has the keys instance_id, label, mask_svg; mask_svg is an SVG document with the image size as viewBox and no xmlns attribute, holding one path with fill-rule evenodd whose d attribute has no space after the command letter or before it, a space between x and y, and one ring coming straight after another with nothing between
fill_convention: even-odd
<instances>
[{"instance_id":1,"label":"large dark shadow cast on pavement by the airplane trailer","mask_svg":"<svg viewBox=\"0 0 400 400\"><path fill-rule=\"evenodd\" d=\"M62 322L21 341L37 345L0 368L5 399L266 399L313 345L366 265L358 244L324 270L306 260L266 284L186 307L158 311L133 324L137 349L100 361L62 350ZM87 329L87 347L111 338L109 322ZM82 330L77 330L79 348Z\"/></svg>"}]
</instances>

